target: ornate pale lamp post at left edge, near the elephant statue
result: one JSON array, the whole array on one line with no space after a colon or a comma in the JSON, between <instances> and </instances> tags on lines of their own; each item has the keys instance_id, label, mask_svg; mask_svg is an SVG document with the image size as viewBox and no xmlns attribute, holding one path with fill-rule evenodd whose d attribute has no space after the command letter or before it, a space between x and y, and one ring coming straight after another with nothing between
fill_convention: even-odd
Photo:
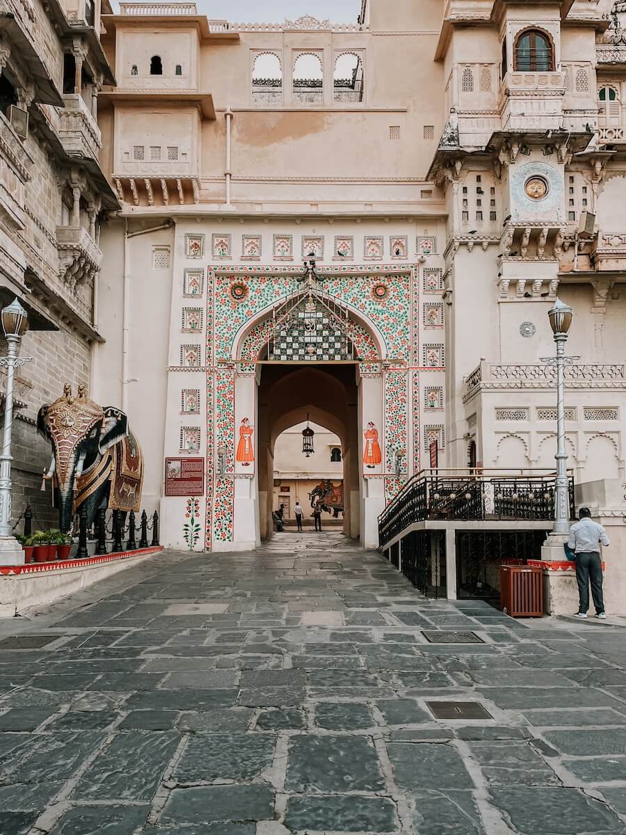
<instances>
[{"instance_id":1,"label":"ornate pale lamp post at left edge, near the elephant statue","mask_svg":"<svg viewBox=\"0 0 626 835\"><path fill-rule=\"evenodd\" d=\"M7 356L0 357L0 367L7 369L7 392L4 401L3 448L0 455L0 562L21 564L24 552L11 528L11 433L13 430L13 378L15 369L31 362L32 357L18 357L19 345L28 330L28 316L17 299L2 311Z\"/></svg>"}]
</instances>

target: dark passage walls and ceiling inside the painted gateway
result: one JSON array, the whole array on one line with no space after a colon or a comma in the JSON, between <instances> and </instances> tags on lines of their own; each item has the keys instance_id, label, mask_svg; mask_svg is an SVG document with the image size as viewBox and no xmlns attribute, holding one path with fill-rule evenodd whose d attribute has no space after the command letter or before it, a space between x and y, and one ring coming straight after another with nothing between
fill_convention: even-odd
<instances>
[{"instance_id":1,"label":"dark passage walls and ceiling inside the painted gateway","mask_svg":"<svg viewBox=\"0 0 626 835\"><path fill-rule=\"evenodd\" d=\"M280 490L275 493L275 487L281 486L275 485L275 473L280 473L276 442L287 430L305 424L307 417L312 425L326 430L329 443L323 454L327 453L329 472L337 467L342 469L344 510L338 518L342 517L343 532L346 536L359 538L360 457L356 377L356 363L352 362L306 365L268 363L261 367L258 400L261 539L268 539L273 534L272 513L276 504L280 506L280 501L275 498L280 496ZM297 440L300 443L299 458L303 458L301 429ZM338 465L330 460L331 449L337 446L341 448L342 458ZM303 504L301 497L298 500ZM310 503L305 512L310 517ZM325 518L331 517L325 514Z\"/></svg>"}]
</instances>

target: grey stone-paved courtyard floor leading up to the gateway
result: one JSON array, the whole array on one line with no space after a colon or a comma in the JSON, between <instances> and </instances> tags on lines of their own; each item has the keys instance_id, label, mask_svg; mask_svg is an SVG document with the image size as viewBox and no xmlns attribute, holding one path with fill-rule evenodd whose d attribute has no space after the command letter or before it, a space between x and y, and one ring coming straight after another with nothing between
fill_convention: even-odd
<instances>
[{"instance_id":1,"label":"grey stone-paved courtyard floor leading up to the gateway","mask_svg":"<svg viewBox=\"0 0 626 835\"><path fill-rule=\"evenodd\" d=\"M0 621L0 832L617 835L624 635L423 600L337 533L160 554Z\"/></svg>"}]
</instances>

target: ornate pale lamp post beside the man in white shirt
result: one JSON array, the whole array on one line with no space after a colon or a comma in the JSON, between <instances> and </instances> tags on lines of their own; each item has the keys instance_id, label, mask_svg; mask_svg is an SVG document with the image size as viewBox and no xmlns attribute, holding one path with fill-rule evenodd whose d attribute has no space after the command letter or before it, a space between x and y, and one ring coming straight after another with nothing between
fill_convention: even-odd
<instances>
[{"instance_id":1,"label":"ornate pale lamp post beside the man in white shirt","mask_svg":"<svg viewBox=\"0 0 626 835\"><path fill-rule=\"evenodd\" d=\"M557 489L556 512L554 514L553 534L568 534L569 531L569 482L568 453L565 449L565 394L563 368L578 360L578 357L565 357L565 343L572 325L573 309L557 299L548 311L550 327L557 343L557 356L549 357L549 362L557 367Z\"/></svg>"}]
</instances>

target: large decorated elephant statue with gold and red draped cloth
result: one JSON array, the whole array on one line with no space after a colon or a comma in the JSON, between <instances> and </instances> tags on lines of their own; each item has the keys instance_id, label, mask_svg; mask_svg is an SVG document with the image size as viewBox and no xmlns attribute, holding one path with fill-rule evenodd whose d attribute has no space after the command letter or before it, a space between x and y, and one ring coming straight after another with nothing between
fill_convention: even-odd
<instances>
[{"instance_id":1,"label":"large decorated elephant statue with gold and red draped cloth","mask_svg":"<svg viewBox=\"0 0 626 835\"><path fill-rule=\"evenodd\" d=\"M144 457L124 412L98 406L84 386L73 397L66 385L63 397L39 409L37 428L52 444L52 461L44 478L52 479L58 527L63 532L71 529L73 514L83 504L88 525L100 509L124 514L139 510Z\"/></svg>"}]
</instances>

